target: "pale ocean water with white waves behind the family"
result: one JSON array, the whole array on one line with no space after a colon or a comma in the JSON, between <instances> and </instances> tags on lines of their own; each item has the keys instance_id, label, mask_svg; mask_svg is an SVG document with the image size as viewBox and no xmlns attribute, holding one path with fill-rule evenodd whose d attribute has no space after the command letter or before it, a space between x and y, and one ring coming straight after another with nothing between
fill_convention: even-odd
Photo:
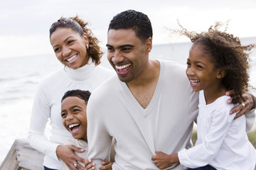
<instances>
[{"instance_id":1,"label":"pale ocean water with white waves behind the family","mask_svg":"<svg viewBox=\"0 0 256 170\"><path fill-rule=\"evenodd\" d=\"M244 45L256 43L256 37L241 38L241 41ZM150 58L186 64L190 47L190 42L154 45ZM250 57L250 84L256 87L256 50L251 52ZM0 64L0 162L3 162L14 140L28 135L33 96L38 82L63 65L54 54L0 58ZM102 66L112 69L106 54L102 57ZM49 130L47 126L47 135L50 135Z\"/></svg>"}]
</instances>

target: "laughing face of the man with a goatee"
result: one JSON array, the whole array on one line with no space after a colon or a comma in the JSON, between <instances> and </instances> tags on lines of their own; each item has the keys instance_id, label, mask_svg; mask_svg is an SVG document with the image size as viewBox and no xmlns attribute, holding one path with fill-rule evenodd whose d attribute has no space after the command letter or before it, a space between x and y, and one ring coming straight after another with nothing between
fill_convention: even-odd
<instances>
[{"instance_id":1,"label":"laughing face of the man with a goatee","mask_svg":"<svg viewBox=\"0 0 256 170\"><path fill-rule=\"evenodd\" d=\"M149 62L150 50L151 38L142 43L132 29L110 29L107 34L107 60L123 82L139 78Z\"/></svg>"}]
</instances>

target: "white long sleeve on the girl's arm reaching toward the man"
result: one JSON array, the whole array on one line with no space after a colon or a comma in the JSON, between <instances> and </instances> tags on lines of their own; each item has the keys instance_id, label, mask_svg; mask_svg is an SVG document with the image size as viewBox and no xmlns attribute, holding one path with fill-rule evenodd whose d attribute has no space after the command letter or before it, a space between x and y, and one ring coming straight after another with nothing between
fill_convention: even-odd
<instances>
[{"instance_id":1,"label":"white long sleeve on the girl's arm reaching toward the man","mask_svg":"<svg viewBox=\"0 0 256 170\"><path fill-rule=\"evenodd\" d=\"M178 158L183 166L197 168L209 164L218 153L223 140L235 115L229 115L229 110L213 113L210 130L201 144L191 149L178 152Z\"/></svg>"}]
</instances>

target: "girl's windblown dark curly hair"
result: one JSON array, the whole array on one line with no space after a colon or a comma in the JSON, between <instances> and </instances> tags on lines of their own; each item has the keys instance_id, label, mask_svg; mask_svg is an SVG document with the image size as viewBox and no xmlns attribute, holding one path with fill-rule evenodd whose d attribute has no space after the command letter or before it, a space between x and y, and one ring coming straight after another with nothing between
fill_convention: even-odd
<instances>
[{"instance_id":1,"label":"girl's windblown dark curly hair","mask_svg":"<svg viewBox=\"0 0 256 170\"><path fill-rule=\"evenodd\" d=\"M234 90L233 103L245 101L242 91L248 91L249 73L249 52L255 44L241 45L240 39L234 35L220 31L222 23L216 22L215 26L210 26L208 32L196 33L183 28L178 22L181 30L171 30L171 33L186 35L191 39L193 45L202 45L201 49L210 55L215 61L215 68L225 70L223 85L228 90Z\"/></svg>"}]
</instances>

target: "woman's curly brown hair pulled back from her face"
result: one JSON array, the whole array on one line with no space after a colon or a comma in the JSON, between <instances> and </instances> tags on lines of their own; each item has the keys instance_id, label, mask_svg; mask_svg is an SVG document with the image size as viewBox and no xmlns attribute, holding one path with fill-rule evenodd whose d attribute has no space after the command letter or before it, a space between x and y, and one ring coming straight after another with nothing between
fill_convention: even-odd
<instances>
[{"instance_id":1,"label":"woman's curly brown hair pulled back from her face","mask_svg":"<svg viewBox=\"0 0 256 170\"><path fill-rule=\"evenodd\" d=\"M78 18L78 16L70 17L70 18L63 18L61 17L58 21L50 26L50 35L57 29L57 28L71 28L76 33L79 33L81 36L83 33L87 34L87 38L89 40L89 47L87 48L87 54L92 58L92 62L95 62L95 65L100 64L100 59L103 55L103 52L100 50L99 40L94 37L92 31L87 28L85 21Z\"/></svg>"}]
</instances>

